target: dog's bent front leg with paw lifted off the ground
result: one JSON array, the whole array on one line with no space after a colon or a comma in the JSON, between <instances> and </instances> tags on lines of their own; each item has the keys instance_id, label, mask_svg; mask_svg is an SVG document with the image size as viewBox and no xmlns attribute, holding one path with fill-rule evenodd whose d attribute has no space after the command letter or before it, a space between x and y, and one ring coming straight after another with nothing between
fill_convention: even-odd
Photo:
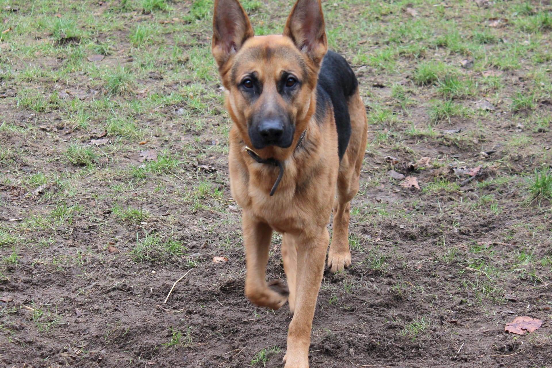
<instances>
[{"instance_id":1,"label":"dog's bent front leg with paw lifted off the ground","mask_svg":"<svg viewBox=\"0 0 552 368\"><path fill-rule=\"evenodd\" d=\"M279 280L266 281L266 269L272 228L267 223L256 221L247 213L242 217L243 242L247 274L245 278L245 295L260 306L278 309L288 300L288 290Z\"/></svg>"}]
</instances>

